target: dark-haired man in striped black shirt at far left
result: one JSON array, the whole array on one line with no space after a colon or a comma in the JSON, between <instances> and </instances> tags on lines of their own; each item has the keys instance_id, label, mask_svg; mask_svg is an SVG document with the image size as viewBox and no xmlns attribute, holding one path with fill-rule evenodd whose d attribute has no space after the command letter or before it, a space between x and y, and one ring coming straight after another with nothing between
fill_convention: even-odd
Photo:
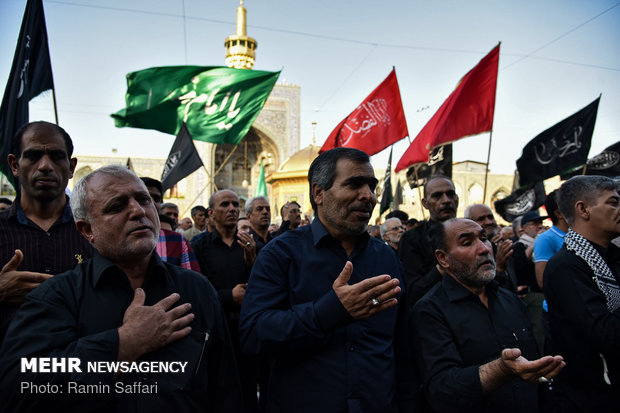
<instances>
[{"instance_id":1,"label":"dark-haired man in striped black shirt at far left","mask_svg":"<svg viewBox=\"0 0 620 413\"><path fill-rule=\"evenodd\" d=\"M53 123L29 123L13 138L7 161L19 193L0 212L0 343L30 291L92 255L65 194L77 164L72 154L71 137Z\"/></svg>"}]
</instances>

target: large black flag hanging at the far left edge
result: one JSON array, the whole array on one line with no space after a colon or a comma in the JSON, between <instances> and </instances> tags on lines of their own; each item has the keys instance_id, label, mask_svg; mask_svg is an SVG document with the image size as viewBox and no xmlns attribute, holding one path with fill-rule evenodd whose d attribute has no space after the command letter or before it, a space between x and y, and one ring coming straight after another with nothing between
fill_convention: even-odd
<instances>
[{"instance_id":1,"label":"large black flag hanging at the far left edge","mask_svg":"<svg viewBox=\"0 0 620 413\"><path fill-rule=\"evenodd\" d=\"M43 3L28 0L0 106L0 171L13 187L17 185L7 162L13 135L28 123L28 102L49 89L54 89L54 80Z\"/></svg>"}]
</instances>

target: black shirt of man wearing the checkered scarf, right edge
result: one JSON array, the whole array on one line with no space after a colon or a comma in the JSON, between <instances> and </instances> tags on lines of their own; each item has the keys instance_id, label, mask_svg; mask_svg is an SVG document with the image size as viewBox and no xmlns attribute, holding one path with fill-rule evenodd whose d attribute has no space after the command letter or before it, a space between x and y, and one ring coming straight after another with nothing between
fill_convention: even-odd
<instances>
[{"instance_id":1,"label":"black shirt of man wearing the checkered scarf, right edge","mask_svg":"<svg viewBox=\"0 0 620 413\"><path fill-rule=\"evenodd\" d=\"M620 283L620 248L592 245ZM566 361L555 388L562 403L572 408L616 412L620 395L620 309L607 309L605 295L593 277L588 264L566 245L545 268L543 285L551 339L554 350ZM605 364L611 384L604 379Z\"/></svg>"}]
</instances>

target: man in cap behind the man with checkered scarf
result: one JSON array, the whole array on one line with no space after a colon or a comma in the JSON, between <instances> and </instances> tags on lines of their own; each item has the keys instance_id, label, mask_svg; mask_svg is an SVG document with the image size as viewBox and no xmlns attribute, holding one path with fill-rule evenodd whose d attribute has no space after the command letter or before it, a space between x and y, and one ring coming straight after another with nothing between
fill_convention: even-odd
<instances>
[{"instance_id":1,"label":"man in cap behind the man with checkered scarf","mask_svg":"<svg viewBox=\"0 0 620 413\"><path fill-rule=\"evenodd\" d=\"M527 312L532 323L532 331L538 348L543 351L545 332L542 325L542 303L545 299L542 288L536 282L534 266L534 241L545 229L542 222L548 217L540 216L538 211L530 211L523 215L521 227L523 235L514 244L512 260L517 275L517 293L527 306Z\"/></svg>"}]
</instances>

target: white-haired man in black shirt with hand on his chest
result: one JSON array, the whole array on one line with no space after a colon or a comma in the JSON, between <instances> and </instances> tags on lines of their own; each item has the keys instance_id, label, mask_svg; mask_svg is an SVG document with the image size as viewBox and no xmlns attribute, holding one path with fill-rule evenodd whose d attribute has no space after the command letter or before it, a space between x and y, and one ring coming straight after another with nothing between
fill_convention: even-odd
<instances>
[{"instance_id":1,"label":"white-haired man in black shirt with hand on his chest","mask_svg":"<svg viewBox=\"0 0 620 413\"><path fill-rule=\"evenodd\" d=\"M144 183L123 166L103 167L76 184L71 206L93 258L47 280L17 313L0 353L3 408L239 411L232 343L217 293L200 274L154 252L159 219ZM80 371L31 371L20 363L40 357L76 358ZM117 361L127 369L87 364ZM169 363L175 363L173 372L162 366ZM61 391L24 391L24 382ZM135 383L140 391L128 391ZM77 390L93 384L99 391Z\"/></svg>"}]
</instances>

